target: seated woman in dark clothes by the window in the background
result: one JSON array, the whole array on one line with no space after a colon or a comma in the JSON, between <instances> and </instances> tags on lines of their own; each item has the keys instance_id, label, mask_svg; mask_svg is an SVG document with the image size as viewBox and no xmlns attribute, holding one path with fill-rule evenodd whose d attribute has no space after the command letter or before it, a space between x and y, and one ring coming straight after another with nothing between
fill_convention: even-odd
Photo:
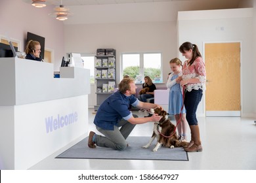
<instances>
[{"instance_id":1,"label":"seated woman in dark clothes by the window in the background","mask_svg":"<svg viewBox=\"0 0 256 183\"><path fill-rule=\"evenodd\" d=\"M154 97L154 90L156 90L156 85L152 82L152 79L150 78L150 76L145 76L144 81L145 82L142 84L142 89L140 90L140 93L144 93L144 94L140 94L138 96L138 99L139 101L146 103L146 99L150 99Z\"/></svg>"}]
</instances>

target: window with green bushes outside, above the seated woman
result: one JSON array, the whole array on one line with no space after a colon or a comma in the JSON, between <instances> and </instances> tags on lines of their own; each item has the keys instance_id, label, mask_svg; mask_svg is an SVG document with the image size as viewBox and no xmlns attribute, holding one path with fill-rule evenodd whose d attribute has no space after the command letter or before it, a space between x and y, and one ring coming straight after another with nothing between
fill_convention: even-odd
<instances>
[{"instance_id":1,"label":"window with green bushes outside, above the seated woman","mask_svg":"<svg viewBox=\"0 0 256 183\"><path fill-rule=\"evenodd\" d=\"M121 77L129 75L136 83L144 82L150 76L154 83L163 82L161 53L121 54Z\"/></svg>"}]
</instances>

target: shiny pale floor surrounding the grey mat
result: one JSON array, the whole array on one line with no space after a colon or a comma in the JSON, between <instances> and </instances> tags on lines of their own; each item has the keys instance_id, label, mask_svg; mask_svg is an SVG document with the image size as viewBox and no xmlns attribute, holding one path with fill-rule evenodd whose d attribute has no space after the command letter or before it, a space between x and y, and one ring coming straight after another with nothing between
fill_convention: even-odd
<instances>
[{"instance_id":1,"label":"shiny pale floor surrounding the grey mat","mask_svg":"<svg viewBox=\"0 0 256 183\"><path fill-rule=\"evenodd\" d=\"M89 131L96 131L93 125L95 114L89 110ZM145 116L144 112L137 112ZM203 152L188 154L189 161L149 161L113 159L55 159L58 154L77 141L43 159L31 169L88 169L88 170L136 170L136 169L176 169L176 170L256 170L256 125L253 118L200 117L198 118L203 144ZM132 136L152 135L152 124L137 125Z\"/></svg>"}]
</instances>

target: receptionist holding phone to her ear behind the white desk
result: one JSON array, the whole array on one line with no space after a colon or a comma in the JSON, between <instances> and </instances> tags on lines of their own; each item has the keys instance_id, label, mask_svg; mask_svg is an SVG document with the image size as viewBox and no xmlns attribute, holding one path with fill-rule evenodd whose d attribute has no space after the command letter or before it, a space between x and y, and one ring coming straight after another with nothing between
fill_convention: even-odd
<instances>
[{"instance_id":1,"label":"receptionist holding phone to her ear behind the white desk","mask_svg":"<svg viewBox=\"0 0 256 183\"><path fill-rule=\"evenodd\" d=\"M26 59L33 59L33 60L36 60L36 61L43 61L40 58L40 53L41 53L40 42L33 41L33 40L28 41L28 44L26 45L26 48L25 48L25 52L27 54Z\"/></svg>"}]
</instances>

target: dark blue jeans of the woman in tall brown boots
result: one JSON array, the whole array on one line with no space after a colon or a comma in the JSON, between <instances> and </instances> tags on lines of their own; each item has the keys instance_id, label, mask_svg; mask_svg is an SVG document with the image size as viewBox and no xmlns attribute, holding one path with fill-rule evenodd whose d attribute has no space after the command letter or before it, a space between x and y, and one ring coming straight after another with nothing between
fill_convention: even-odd
<instances>
[{"instance_id":1,"label":"dark blue jeans of the woman in tall brown boots","mask_svg":"<svg viewBox=\"0 0 256 183\"><path fill-rule=\"evenodd\" d=\"M184 107L186 108L186 120L189 125L198 125L196 110L203 96L203 90L185 91Z\"/></svg>"}]
</instances>

